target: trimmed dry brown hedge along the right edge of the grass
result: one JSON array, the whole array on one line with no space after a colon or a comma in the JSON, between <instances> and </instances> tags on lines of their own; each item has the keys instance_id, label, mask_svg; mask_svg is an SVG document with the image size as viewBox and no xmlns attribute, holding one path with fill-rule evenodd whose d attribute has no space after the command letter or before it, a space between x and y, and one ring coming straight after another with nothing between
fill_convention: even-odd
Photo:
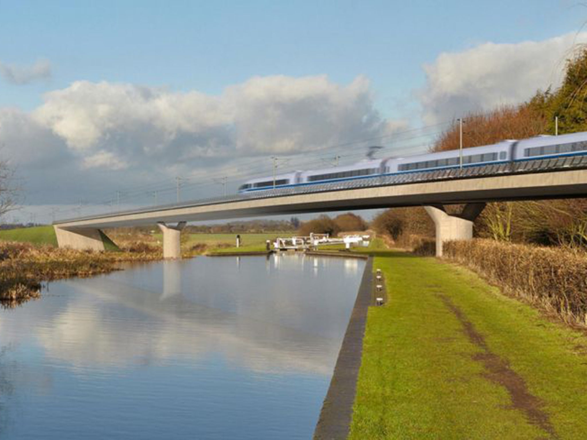
<instances>
[{"instance_id":1,"label":"trimmed dry brown hedge along the right edge of the grass","mask_svg":"<svg viewBox=\"0 0 587 440\"><path fill-rule=\"evenodd\" d=\"M445 242L443 253L505 292L587 325L587 254L486 239Z\"/></svg>"}]
</instances>

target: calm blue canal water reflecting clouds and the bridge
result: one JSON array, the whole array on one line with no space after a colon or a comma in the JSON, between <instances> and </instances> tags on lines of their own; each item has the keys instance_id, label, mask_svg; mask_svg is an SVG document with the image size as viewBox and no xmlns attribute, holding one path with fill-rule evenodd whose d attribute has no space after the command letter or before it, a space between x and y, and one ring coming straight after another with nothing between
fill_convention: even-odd
<instances>
[{"instance_id":1,"label":"calm blue canal water reflecting clouds and the bridge","mask_svg":"<svg viewBox=\"0 0 587 440\"><path fill-rule=\"evenodd\" d=\"M365 263L200 257L0 310L0 439L311 438Z\"/></svg>"}]
</instances>

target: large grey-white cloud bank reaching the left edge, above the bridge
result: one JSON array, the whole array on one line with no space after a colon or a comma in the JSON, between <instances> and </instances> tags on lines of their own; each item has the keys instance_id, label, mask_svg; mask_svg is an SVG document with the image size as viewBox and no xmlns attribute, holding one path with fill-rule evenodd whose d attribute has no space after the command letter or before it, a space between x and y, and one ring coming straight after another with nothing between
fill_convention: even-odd
<instances>
[{"instance_id":1,"label":"large grey-white cloud bank reaching the left edge, above the bridge","mask_svg":"<svg viewBox=\"0 0 587 440\"><path fill-rule=\"evenodd\" d=\"M303 161L301 153L406 126L379 115L364 77L350 84L326 76L254 77L218 95L79 81L43 100L30 113L0 109L0 156L19 167L27 204L46 204L49 191L52 203L107 202L116 191L154 181L168 182L159 185L173 191L158 197L171 201L178 175L191 177L190 184L227 175L236 187L248 175L271 172L265 158L272 153ZM182 197L215 189L194 185ZM136 194L132 202L139 203Z\"/></svg>"}]
</instances>

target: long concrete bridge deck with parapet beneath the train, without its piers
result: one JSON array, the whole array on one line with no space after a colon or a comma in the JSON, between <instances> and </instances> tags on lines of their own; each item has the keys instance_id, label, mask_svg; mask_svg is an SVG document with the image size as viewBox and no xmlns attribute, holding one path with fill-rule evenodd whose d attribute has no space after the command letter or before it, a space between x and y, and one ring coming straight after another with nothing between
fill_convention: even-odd
<instances>
[{"instance_id":1,"label":"long concrete bridge deck with parapet beneath the train, without its piers","mask_svg":"<svg viewBox=\"0 0 587 440\"><path fill-rule=\"evenodd\" d=\"M55 225L108 228L159 221L561 197L587 197L587 155L298 185L65 219Z\"/></svg>"}]
</instances>

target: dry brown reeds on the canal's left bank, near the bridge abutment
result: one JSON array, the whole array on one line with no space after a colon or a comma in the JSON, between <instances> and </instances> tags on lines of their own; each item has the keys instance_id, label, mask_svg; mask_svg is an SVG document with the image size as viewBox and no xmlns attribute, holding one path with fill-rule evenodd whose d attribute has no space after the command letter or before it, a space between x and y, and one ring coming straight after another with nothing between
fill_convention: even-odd
<instances>
[{"instance_id":1,"label":"dry brown reeds on the canal's left bank, near the bridge abutment","mask_svg":"<svg viewBox=\"0 0 587 440\"><path fill-rule=\"evenodd\" d=\"M162 258L160 248L126 252L95 252L0 242L0 304L14 307L39 297L41 282L72 276L112 272L124 261Z\"/></svg>"}]
</instances>

